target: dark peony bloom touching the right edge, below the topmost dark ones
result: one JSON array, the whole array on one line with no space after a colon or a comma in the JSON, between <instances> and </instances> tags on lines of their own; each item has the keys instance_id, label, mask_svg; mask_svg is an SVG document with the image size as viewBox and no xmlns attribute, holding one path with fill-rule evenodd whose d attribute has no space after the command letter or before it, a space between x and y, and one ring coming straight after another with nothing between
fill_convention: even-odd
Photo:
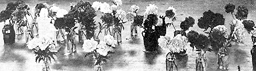
<instances>
[{"instance_id":1,"label":"dark peony bloom touching the right edge, below the topmost dark ones","mask_svg":"<svg viewBox=\"0 0 256 71\"><path fill-rule=\"evenodd\" d=\"M243 26L245 26L245 29L250 32L251 30L254 30L254 22L253 20L243 20Z\"/></svg>"}]
</instances>

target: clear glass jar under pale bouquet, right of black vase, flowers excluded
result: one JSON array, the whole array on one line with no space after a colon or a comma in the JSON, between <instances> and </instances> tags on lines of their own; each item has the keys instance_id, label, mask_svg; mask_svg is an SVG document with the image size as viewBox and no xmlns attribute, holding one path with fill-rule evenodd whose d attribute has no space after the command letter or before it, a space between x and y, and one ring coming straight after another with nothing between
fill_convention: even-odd
<instances>
[{"instance_id":1,"label":"clear glass jar under pale bouquet, right of black vase, flowers excluded","mask_svg":"<svg viewBox=\"0 0 256 71\"><path fill-rule=\"evenodd\" d=\"M166 71L174 71L175 67L177 70L175 54L172 52L169 52L166 55Z\"/></svg>"}]
</instances>

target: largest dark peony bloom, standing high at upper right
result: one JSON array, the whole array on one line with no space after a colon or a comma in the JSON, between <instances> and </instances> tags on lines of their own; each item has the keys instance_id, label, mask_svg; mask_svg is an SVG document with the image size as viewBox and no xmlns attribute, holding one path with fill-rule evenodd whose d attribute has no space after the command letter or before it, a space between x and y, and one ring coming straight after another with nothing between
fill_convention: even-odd
<instances>
[{"instance_id":1,"label":"largest dark peony bloom, standing high at upper right","mask_svg":"<svg viewBox=\"0 0 256 71\"><path fill-rule=\"evenodd\" d=\"M207 30L209 27L212 29L218 25L224 25L225 18L222 14L214 13L212 11L205 11L203 17L198 19L197 25L199 28L204 28Z\"/></svg>"}]
</instances>

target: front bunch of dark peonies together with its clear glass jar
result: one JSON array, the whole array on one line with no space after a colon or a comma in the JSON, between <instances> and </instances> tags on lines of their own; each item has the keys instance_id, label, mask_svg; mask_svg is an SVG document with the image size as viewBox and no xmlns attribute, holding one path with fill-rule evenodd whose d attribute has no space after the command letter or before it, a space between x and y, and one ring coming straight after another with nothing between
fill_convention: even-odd
<instances>
[{"instance_id":1,"label":"front bunch of dark peonies together with its clear glass jar","mask_svg":"<svg viewBox=\"0 0 256 71\"><path fill-rule=\"evenodd\" d=\"M196 31L188 32L188 42L191 43L190 46L196 51L198 56L196 57L196 70L205 71L207 70L207 58L204 56L207 51L211 52L212 49L210 46L210 39L208 36L203 34L198 34Z\"/></svg>"}]
</instances>

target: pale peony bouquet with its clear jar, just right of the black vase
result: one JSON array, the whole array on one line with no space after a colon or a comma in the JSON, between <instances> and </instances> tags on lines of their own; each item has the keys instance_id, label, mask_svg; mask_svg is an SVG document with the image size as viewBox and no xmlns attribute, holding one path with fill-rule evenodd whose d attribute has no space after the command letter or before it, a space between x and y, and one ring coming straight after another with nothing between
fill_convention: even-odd
<instances>
[{"instance_id":1,"label":"pale peony bouquet with its clear jar, just right of the black vase","mask_svg":"<svg viewBox=\"0 0 256 71\"><path fill-rule=\"evenodd\" d=\"M162 49L170 51L166 55L166 70L167 71L174 70L174 66L176 66L176 69L177 69L175 55L186 50L187 43L188 43L187 37L181 36L180 34L178 34L174 38L172 38L168 35L160 36L160 38L158 39L158 45Z\"/></svg>"}]
</instances>

